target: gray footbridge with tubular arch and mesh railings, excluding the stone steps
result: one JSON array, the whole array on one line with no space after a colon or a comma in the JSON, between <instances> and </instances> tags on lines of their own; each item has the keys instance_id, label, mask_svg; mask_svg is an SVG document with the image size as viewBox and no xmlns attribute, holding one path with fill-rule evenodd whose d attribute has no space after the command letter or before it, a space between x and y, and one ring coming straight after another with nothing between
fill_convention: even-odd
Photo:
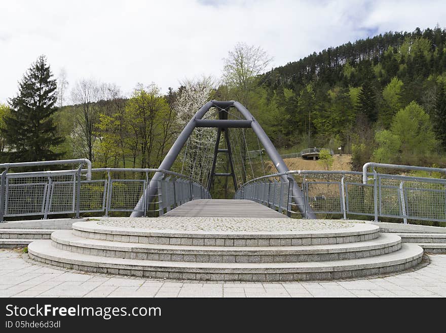
<instances>
[{"instance_id":1,"label":"gray footbridge with tubular arch and mesh railings, excluding the stone steps","mask_svg":"<svg viewBox=\"0 0 446 333\"><path fill-rule=\"evenodd\" d=\"M266 155L252 156L254 149ZM51 165L65 170L23 171ZM239 214L250 216L268 211L304 218L446 221L446 180L379 173L378 167L445 173L441 168L375 164L363 172L290 171L246 107L209 101L185 125L157 169L92 168L86 159L0 164L0 221L82 214L162 216L172 210L189 216L187 209L198 211L203 202L209 207L203 206L206 213L215 209L231 216L238 207ZM257 204L212 203L211 192L221 192L222 182L233 199ZM188 203L197 199L206 201Z\"/></svg>"}]
</instances>

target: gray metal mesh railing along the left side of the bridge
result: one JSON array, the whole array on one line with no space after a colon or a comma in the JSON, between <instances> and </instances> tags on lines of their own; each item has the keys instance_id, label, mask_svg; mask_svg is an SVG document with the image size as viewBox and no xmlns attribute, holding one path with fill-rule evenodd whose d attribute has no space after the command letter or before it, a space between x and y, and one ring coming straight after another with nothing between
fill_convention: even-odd
<instances>
[{"instance_id":1,"label":"gray metal mesh railing along the left side of the bridge","mask_svg":"<svg viewBox=\"0 0 446 333\"><path fill-rule=\"evenodd\" d=\"M2 183L0 207L4 217L54 214L133 212L159 216L194 199L209 199L210 194L192 178L161 169L91 169L91 178L82 170L6 173ZM146 198L145 188L153 174L160 172L154 198ZM143 205L135 208L143 198ZM116 213L112 213L116 214Z\"/></svg>"}]
</instances>

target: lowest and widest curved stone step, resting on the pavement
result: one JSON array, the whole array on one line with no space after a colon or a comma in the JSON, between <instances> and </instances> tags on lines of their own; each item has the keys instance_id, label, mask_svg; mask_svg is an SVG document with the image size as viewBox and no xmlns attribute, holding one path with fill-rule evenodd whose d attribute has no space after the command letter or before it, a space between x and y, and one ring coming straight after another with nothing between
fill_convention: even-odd
<instances>
[{"instance_id":1,"label":"lowest and widest curved stone step, resting on the pavement","mask_svg":"<svg viewBox=\"0 0 446 333\"><path fill-rule=\"evenodd\" d=\"M184 263L122 259L87 255L57 249L49 240L28 246L31 259L50 265L108 274L185 280L304 281L331 280L387 274L416 266L423 249L402 244L389 254L367 258L309 263Z\"/></svg>"}]
</instances>

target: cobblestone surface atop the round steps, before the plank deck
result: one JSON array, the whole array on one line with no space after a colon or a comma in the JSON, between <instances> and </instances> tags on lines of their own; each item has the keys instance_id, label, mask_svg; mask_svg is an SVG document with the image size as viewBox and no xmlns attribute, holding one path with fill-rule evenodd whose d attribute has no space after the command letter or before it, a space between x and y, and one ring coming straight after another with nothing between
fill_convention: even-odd
<instances>
[{"instance_id":1,"label":"cobblestone surface atop the round steps, before the plank deck","mask_svg":"<svg viewBox=\"0 0 446 333\"><path fill-rule=\"evenodd\" d=\"M102 217L99 225L179 231L307 231L353 227L359 220L293 219L277 217Z\"/></svg>"}]
</instances>

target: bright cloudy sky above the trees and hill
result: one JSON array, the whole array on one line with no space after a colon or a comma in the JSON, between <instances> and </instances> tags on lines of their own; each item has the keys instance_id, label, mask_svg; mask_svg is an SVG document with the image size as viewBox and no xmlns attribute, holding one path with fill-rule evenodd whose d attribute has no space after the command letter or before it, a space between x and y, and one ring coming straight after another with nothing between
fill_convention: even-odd
<instances>
[{"instance_id":1,"label":"bright cloudy sky above the trees and hill","mask_svg":"<svg viewBox=\"0 0 446 333\"><path fill-rule=\"evenodd\" d=\"M167 92L185 79L218 79L238 42L260 46L277 67L330 46L436 24L446 27L444 0L0 0L0 102L17 94L41 54L55 77L65 70L68 90L94 79L129 96L138 83Z\"/></svg>"}]
</instances>

